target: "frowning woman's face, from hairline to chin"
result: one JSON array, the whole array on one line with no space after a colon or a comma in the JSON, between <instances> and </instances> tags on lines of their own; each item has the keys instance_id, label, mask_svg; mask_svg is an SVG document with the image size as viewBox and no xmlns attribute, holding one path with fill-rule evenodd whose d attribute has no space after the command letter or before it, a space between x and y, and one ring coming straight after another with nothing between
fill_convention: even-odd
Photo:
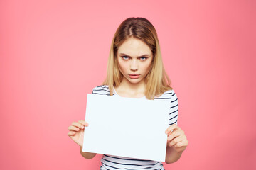
<instances>
[{"instance_id":1,"label":"frowning woman's face, from hairline to chin","mask_svg":"<svg viewBox=\"0 0 256 170\"><path fill-rule=\"evenodd\" d=\"M146 43L137 38L129 38L117 50L117 62L124 79L138 84L149 73L153 56ZM123 80L124 80L123 79Z\"/></svg>"}]
</instances>

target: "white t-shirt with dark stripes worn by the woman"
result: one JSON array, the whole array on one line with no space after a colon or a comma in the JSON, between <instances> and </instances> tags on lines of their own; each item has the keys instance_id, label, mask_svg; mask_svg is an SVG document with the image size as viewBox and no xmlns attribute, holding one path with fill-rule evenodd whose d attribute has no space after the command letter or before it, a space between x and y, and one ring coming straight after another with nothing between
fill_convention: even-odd
<instances>
[{"instance_id":1,"label":"white t-shirt with dark stripes worn by the woman","mask_svg":"<svg viewBox=\"0 0 256 170\"><path fill-rule=\"evenodd\" d=\"M110 96L110 90L107 85L97 86L92 90L92 94L95 95L107 95ZM114 89L113 96L118 96ZM146 99L146 97L143 97ZM157 100L169 100L170 111L169 111L169 125L178 123L178 98L174 92L174 89L164 92L159 97L155 97ZM133 159L129 157L117 157L109 154L103 154L101 159L102 165L100 170L117 170L117 169L147 169L147 170L164 170L164 166L161 162L144 160L144 159Z\"/></svg>"}]
</instances>

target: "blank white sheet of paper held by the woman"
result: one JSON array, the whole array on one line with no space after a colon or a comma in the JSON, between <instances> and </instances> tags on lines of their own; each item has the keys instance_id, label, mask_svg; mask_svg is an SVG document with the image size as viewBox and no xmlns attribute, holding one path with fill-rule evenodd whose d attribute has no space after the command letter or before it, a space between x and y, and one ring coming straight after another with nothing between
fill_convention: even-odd
<instances>
[{"instance_id":1,"label":"blank white sheet of paper held by the woman","mask_svg":"<svg viewBox=\"0 0 256 170\"><path fill-rule=\"evenodd\" d=\"M87 94L83 152L165 161L169 103Z\"/></svg>"}]
</instances>

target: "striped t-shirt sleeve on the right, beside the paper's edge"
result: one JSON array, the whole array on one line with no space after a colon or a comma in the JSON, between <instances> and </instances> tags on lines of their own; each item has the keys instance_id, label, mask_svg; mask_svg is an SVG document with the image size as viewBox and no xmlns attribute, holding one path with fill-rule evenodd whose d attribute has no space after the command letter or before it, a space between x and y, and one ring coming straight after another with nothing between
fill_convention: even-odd
<instances>
[{"instance_id":1,"label":"striped t-shirt sleeve on the right, beside the paper's edge","mask_svg":"<svg viewBox=\"0 0 256 170\"><path fill-rule=\"evenodd\" d=\"M178 97L176 96L174 89L171 90L171 103L170 103L170 113L169 113L169 125L178 125Z\"/></svg>"}]
</instances>

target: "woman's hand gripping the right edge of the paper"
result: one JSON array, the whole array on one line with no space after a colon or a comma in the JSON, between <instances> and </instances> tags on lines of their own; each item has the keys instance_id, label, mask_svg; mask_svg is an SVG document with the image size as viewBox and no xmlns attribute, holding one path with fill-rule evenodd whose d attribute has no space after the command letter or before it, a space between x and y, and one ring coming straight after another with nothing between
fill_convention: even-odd
<instances>
[{"instance_id":1,"label":"woman's hand gripping the right edge of the paper","mask_svg":"<svg viewBox=\"0 0 256 170\"><path fill-rule=\"evenodd\" d=\"M167 146L173 147L176 152L183 152L187 145L188 140L186 139L185 132L178 127L178 125L170 125L166 129L167 136Z\"/></svg>"}]
</instances>

